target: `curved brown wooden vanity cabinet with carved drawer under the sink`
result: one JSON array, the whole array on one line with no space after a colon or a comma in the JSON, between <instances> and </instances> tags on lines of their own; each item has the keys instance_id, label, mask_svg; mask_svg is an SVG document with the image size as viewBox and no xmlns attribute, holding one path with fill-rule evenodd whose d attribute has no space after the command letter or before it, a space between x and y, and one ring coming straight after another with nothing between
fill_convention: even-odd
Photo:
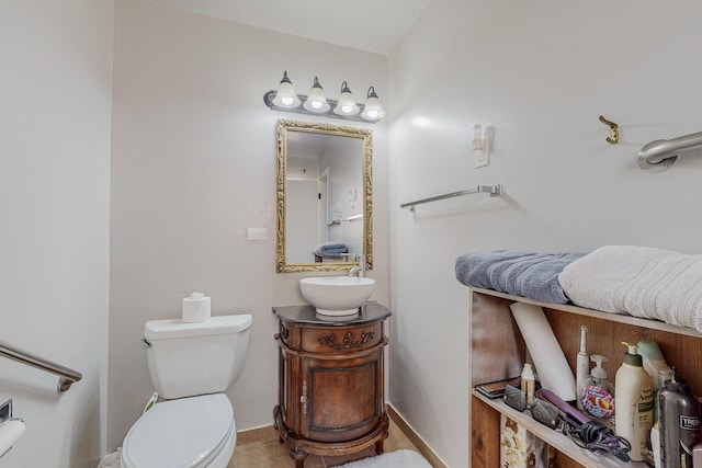
<instances>
[{"instance_id":1,"label":"curved brown wooden vanity cabinet with carved drawer under the sink","mask_svg":"<svg viewBox=\"0 0 702 468\"><path fill-rule=\"evenodd\" d=\"M273 409L281 443L296 467L308 454L337 456L387 437L384 396L385 319L389 310L367 303L338 320L312 306L274 307L279 321L279 403Z\"/></svg>"}]
</instances>

